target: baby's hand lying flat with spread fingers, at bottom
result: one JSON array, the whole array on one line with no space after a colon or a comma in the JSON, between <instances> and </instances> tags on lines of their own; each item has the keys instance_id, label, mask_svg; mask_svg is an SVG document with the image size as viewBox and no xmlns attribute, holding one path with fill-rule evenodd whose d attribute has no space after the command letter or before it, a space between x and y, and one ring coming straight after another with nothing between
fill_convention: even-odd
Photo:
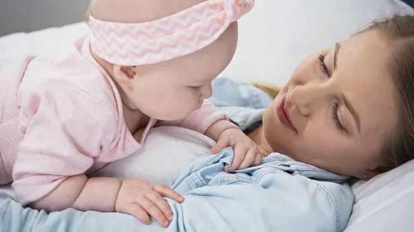
<instances>
[{"instance_id":1,"label":"baby's hand lying flat with spread fingers, at bottom","mask_svg":"<svg viewBox=\"0 0 414 232\"><path fill-rule=\"evenodd\" d=\"M184 201L182 196L164 184L127 179L119 189L115 211L134 215L145 224L150 224L152 217L160 226L167 227L172 220L172 211L163 197L180 203Z\"/></svg>"}]
</instances>

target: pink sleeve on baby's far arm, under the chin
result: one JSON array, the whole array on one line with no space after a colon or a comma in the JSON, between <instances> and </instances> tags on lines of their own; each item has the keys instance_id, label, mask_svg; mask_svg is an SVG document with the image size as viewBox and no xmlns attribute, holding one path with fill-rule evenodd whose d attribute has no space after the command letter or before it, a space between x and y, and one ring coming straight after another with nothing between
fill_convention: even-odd
<instances>
[{"instance_id":1,"label":"pink sleeve on baby's far arm, under the chin","mask_svg":"<svg viewBox=\"0 0 414 232\"><path fill-rule=\"evenodd\" d=\"M220 112L213 104L204 101L201 108L195 110L189 116L179 120L159 121L155 126L184 127L204 134L210 125L223 119L228 120L228 116L224 112Z\"/></svg>"}]
</instances>

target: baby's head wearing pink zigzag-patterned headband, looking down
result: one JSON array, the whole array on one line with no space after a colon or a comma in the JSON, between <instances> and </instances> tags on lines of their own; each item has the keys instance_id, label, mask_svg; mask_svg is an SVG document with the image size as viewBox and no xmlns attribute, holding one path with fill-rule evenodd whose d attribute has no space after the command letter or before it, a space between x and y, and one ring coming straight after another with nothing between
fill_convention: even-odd
<instances>
[{"instance_id":1,"label":"baby's head wearing pink zigzag-patterned headband, looking down","mask_svg":"<svg viewBox=\"0 0 414 232\"><path fill-rule=\"evenodd\" d=\"M91 50L128 107L176 120L210 97L211 81L235 54L236 21L251 6L253 0L92 0Z\"/></svg>"}]
</instances>

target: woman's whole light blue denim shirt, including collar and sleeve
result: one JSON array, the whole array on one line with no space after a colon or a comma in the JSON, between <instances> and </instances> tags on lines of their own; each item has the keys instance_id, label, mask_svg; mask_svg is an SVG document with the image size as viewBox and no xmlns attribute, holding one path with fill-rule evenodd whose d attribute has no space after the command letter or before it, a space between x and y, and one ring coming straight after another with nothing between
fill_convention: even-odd
<instances>
[{"instance_id":1,"label":"woman's whole light blue denim shirt, including collar and sleeve","mask_svg":"<svg viewBox=\"0 0 414 232\"><path fill-rule=\"evenodd\" d=\"M213 85L215 94L211 102L225 109L244 129L261 120L265 104L272 100L252 85L239 85L228 79L218 79ZM221 87L226 93L217 93ZM221 98L217 94L228 96ZM235 106L223 99L230 99ZM353 206L348 178L277 153L264 158L257 167L226 173L224 168L232 160L233 149L226 148L219 154L198 158L181 174L172 188L185 200L180 204L166 199L174 214L168 228L162 228L154 220L145 225L121 213L67 209L48 215L44 211L23 209L0 193L0 231L344 230Z\"/></svg>"}]
</instances>

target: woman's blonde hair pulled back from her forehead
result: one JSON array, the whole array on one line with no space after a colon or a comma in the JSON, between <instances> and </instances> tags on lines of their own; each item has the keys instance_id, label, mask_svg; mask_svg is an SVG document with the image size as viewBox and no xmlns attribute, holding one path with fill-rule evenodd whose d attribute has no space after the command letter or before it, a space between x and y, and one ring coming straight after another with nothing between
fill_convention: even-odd
<instances>
[{"instance_id":1,"label":"woman's blonde hair pulled back from her forehead","mask_svg":"<svg viewBox=\"0 0 414 232\"><path fill-rule=\"evenodd\" d=\"M360 33L372 30L388 39L389 70L400 94L397 128L382 145L381 157L386 165L380 171L388 171L414 158L414 15L396 14L374 21Z\"/></svg>"}]
</instances>

